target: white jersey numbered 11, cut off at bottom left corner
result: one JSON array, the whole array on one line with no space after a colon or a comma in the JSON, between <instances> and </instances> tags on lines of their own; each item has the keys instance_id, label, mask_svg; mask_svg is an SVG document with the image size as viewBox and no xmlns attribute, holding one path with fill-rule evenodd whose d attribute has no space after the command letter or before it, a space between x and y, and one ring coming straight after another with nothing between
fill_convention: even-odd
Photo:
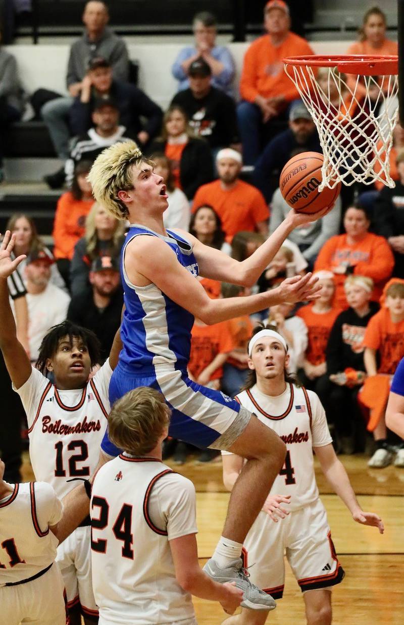
<instances>
[{"instance_id":1,"label":"white jersey numbered 11, cut off at bottom left corner","mask_svg":"<svg viewBox=\"0 0 404 625\"><path fill-rule=\"evenodd\" d=\"M54 562L58 539L49 525L61 519L62 502L49 484L15 484L0 499L0 586L28 579Z\"/></svg>"}]
</instances>

